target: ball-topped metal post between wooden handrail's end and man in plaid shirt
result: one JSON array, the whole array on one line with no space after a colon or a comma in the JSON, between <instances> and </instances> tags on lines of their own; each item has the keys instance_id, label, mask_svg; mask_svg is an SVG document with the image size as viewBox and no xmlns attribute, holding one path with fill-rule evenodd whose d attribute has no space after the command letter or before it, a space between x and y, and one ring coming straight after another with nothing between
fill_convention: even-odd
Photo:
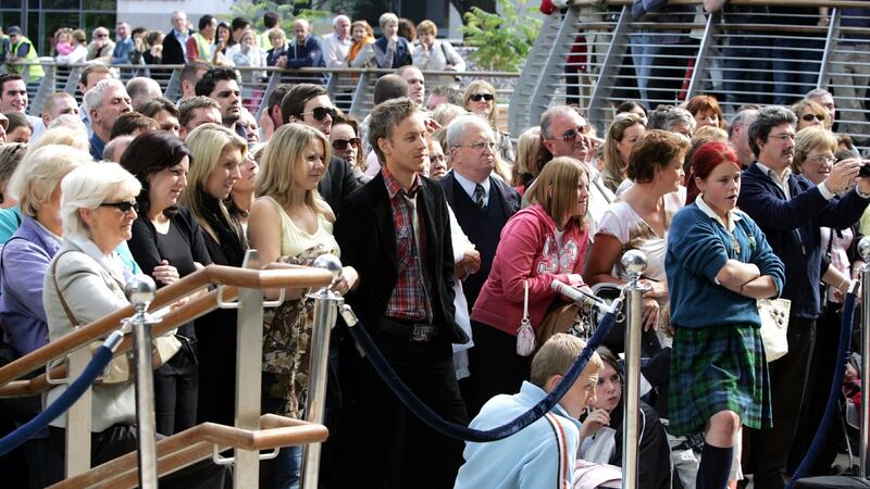
<instances>
[{"instance_id":1,"label":"ball-topped metal post between wooden handrail's end and man in plaid shirt","mask_svg":"<svg viewBox=\"0 0 870 489\"><path fill-rule=\"evenodd\" d=\"M335 255L323 254L314 260L314 266L333 274L333 283L307 297L314 299L314 327L311 331L311 363L308 373L308 402L306 418L309 423L323 424L326 399L326 377L330 371L330 335L335 326L338 309L344 305L341 296L330 288L341 278L341 262ZM301 488L316 489L320 473L320 443L309 443L302 448Z\"/></svg>"}]
</instances>

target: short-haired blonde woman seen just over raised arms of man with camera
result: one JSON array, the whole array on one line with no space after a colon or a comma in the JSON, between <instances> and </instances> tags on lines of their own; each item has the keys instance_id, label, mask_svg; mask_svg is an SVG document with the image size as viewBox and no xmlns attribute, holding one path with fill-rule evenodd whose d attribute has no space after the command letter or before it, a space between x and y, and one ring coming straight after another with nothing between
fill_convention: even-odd
<instances>
[{"instance_id":1,"label":"short-haired blonde woman seen just over raised arms of man with camera","mask_svg":"<svg viewBox=\"0 0 870 489\"><path fill-rule=\"evenodd\" d=\"M792 160L792 172L807 177L817 186L831 174L836 163L834 154L837 149L836 137L822 126L810 126L801 129L795 137L795 155ZM836 365L836 350L840 338L840 325L843 318L843 298L857 278L863 262L856 252L859 240L858 225L845 229L821 227L822 251L822 313L817 319L816 347L812 350L810 377L807 380L806 423L798 425L794 444L803 450L793 453L806 453L812 436L824 413L828 389ZM853 273L853 271L855 271ZM813 428L809 428L813 427ZM822 474L831 468L836 456L836 449L830 443L821 451L811 473ZM799 461L796 461L799 462ZM817 471L818 469L818 471Z\"/></svg>"}]
</instances>

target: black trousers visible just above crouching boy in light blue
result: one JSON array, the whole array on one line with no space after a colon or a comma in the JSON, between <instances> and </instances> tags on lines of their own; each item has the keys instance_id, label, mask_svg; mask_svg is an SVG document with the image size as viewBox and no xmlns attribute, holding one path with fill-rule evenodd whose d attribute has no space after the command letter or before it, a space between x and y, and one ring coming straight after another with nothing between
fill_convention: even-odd
<instances>
[{"instance_id":1,"label":"black trousers visible just above crouching boy in light blue","mask_svg":"<svg viewBox=\"0 0 870 489\"><path fill-rule=\"evenodd\" d=\"M474 348L469 352L471 376L462 380L462 397L472 419L496 394L520 391L529 380L532 358L517 354L517 337L476 321L471 322Z\"/></svg>"}]
</instances>

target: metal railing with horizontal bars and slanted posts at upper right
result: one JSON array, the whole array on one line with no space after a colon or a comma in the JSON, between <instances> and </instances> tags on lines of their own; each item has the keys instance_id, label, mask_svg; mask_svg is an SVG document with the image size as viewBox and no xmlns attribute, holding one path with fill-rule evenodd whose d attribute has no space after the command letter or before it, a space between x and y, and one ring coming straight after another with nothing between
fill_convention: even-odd
<instances>
[{"instance_id":1,"label":"metal railing with horizontal bars and slanted posts at upper right","mask_svg":"<svg viewBox=\"0 0 870 489\"><path fill-rule=\"evenodd\" d=\"M866 20L843 9L870 9L868 2L730 0L723 12L704 15L698 0L670 0L639 20L631 4L577 0L545 21L511 100L511 134L537 125L557 103L575 103L602 134L613 108L629 99L655 108L708 93L730 114L747 103L791 104L813 88L834 92L838 134L870 134L870 78L861 74L870 72L870 29L843 26ZM771 5L826 7L830 22L733 9ZM574 48L585 52L572 54Z\"/></svg>"}]
</instances>

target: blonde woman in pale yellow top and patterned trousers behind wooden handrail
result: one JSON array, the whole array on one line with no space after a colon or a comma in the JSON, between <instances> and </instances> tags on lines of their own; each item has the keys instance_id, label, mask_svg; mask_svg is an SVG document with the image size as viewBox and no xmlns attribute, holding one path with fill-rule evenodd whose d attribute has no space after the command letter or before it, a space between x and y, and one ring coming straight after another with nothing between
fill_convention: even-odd
<instances>
[{"instance_id":1,"label":"blonde woman in pale yellow top and patterned trousers behind wooden handrail","mask_svg":"<svg viewBox=\"0 0 870 489\"><path fill-rule=\"evenodd\" d=\"M333 237L335 215L318 193L331 158L326 137L302 124L285 124L270 139L248 221L248 236L262 263L311 265L323 253L340 255ZM344 294L356 283L357 271L346 266L333 290ZM287 292L289 300L263 325L263 410L299 418L308 394L313 300L298 289ZM264 293L274 298L278 291ZM282 322L285 317L296 321ZM275 462L276 487L298 481L300 456L298 447L282 450Z\"/></svg>"}]
</instances>

